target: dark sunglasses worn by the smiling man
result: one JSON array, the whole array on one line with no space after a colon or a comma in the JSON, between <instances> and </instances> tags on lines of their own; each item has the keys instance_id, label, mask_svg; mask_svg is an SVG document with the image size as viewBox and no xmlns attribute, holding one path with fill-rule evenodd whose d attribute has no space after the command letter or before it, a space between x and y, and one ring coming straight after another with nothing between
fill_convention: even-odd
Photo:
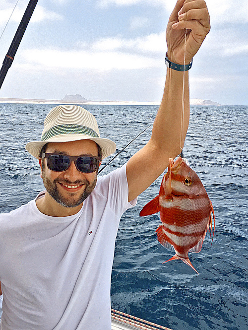
<instances>
[{"instance_id":1,"label":"dark sunglasses worn by the smiling man","mask_svg":"<svg viewBox=\"0 0 248 330\"><path fill-rule=\"evenodd\" d=\"M98 156L67 156L61 153L43 153L42 158L47 158L47 166L51 171L66 171L73 161L76 169L83 173L93 173L98 170L101 157Z\"/></svg>"}]
</instances>

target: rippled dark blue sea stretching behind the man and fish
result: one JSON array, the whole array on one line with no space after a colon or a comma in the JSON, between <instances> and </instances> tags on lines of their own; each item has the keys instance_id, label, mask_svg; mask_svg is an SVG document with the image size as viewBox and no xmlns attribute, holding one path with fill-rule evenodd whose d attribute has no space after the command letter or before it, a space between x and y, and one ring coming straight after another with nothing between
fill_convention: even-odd
<instances>
[{"instance_id":1,"label":"rippled dark blue sea stretching behind the man and fish","mask_svg":"<svg viewBox=\"0 0 248 330\"><path fill-rule=\"evenodd\" d=\"M27 203L43 190L38 161L25 151L25 143L40 138L53 106L0 104L0 212ZM158 106L84 107L96 116L101 136L116 141L117 152L153 123L158 110ZM201 251L189 254L200 275L181 261L162 264L174 254L157 240L159 213L139 217L141 208L158 195L161 175L121 219L112 308L173 330L248 329L247 128L248 106L191 107L184 154L213 203L213 244L208 233ZM151 127L101 175L123 165L150 135Z\"/></svg>"}]
</instances>

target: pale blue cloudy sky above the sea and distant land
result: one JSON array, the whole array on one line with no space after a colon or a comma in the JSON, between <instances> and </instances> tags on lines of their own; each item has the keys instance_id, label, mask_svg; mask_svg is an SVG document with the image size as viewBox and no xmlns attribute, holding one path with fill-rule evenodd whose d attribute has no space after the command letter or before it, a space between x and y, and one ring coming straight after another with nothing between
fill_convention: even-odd
<instances>
[{"instance_id":1,"label":"pale blue cloudy sky above the sea and distant land","mask_svg":"<svg viewBox=\"0 0 248 330\"><path fill-rule=\"evenodd\" d=\"M0 35L17 0L0 1ZM0 39L8 51L29 0ZM160 101L176 0L39 0L0 97ZM189 71L190 98L248 105L248 1L206 0L211 30Z\"/></svg>"}]
</instances>

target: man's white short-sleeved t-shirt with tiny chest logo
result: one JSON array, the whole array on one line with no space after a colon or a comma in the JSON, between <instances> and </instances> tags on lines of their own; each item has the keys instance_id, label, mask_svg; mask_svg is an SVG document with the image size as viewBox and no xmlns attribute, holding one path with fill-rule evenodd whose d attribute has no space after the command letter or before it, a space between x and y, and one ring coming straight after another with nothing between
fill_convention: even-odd
<instances>
[{"instance_id":1,"label":"man's white short-sleeved t-shirt with tiny chest logo","mask_svg":"<svg viewBox=\"0 0 248 330\"><path fill-rule=\"evenodd\" d=\"M111 329L115 240L136 203L125 168L98 177L75 215L45 215L35 199L0 214L2 330Z\"/></svg>"}]
</instances>

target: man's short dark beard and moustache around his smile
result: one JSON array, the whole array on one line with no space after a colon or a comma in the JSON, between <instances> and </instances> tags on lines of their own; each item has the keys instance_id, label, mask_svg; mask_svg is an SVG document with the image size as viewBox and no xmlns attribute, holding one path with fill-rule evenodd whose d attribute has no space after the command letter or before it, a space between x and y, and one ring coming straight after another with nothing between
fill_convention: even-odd
<instances>
[{"instance_id":1,"label":"man's short dark beard and moustache around his smile","mask_svg":"<svg viewBox=\"0 0 248 330\"><path fill-rule=\"evenodd\" d=\"M94 188L96 186L97 175L95 177L95 180L91 184L86 179L83 182L80 180L77 180L73 183L68 180L63 180L64 184L68 184L70 186L82 185L82 184L85 185L83 193L77 199L73 198L75 193L70 193L71 198L65 198L60 194L58 187L56 185L57 182L59 181L59 178L55 179L54 182L52 182L45 175L45 171L43 171L42 179L43 179L44 187L46 188L49 195L52 198L54 198L54 200L56 200L59 204L61 204L64 207L76 207L76 206L80 205L94 190Z\"/></svg>"}]
</instances>

